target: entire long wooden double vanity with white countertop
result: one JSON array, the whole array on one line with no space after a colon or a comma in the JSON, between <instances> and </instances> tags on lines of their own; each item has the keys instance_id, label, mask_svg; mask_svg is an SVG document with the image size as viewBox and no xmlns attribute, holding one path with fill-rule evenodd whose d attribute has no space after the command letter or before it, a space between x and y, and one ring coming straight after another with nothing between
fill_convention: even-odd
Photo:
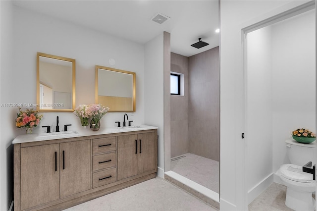
<instances>
[{"instance_id":1,"label":"entire long wooden double vanity with white countertop","mask_svg":"<svg viewBox=\"0 0 317 211\"><path fill-rule=\"evenodd\" d=\"M154 178L157 127L20 135L14 144L14 211L63 210Z\"/></svg>"}]
</instances>

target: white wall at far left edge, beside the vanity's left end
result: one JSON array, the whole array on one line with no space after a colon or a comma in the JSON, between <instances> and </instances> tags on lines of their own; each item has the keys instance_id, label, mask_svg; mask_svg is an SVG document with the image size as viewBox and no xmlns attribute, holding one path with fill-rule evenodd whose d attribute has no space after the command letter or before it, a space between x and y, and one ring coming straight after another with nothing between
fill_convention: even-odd
<instances>
[{"instance_id":1,"label":"white wall at far left edge, beside the vanity's left end","mask_svg":"<svg viewBox=\"0 0 317 211\"><path fill-rule=\"evenodd\" d=\"M10 88L16 86L11 74L13 63L13 7L10 1L0 1L0 103L11 102ZM13 198L13 146L14 117L16 113L0 107L0 210L9 209Z\"/></svg>"}]
</instances>

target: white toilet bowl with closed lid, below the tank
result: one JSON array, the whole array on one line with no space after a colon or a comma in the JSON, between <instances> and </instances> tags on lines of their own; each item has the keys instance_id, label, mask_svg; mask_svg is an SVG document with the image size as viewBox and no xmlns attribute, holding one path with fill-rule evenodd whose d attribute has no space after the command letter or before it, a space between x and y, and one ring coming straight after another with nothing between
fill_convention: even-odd
<instances>
[{"instance_id":1,"label":"white toilet bowl with closed lid, below the tank","mask_svg":"<svg viewBox=\"0 0 317 211\"><path fill-rule=\"evenodd\" d=\"M283 164L276 172L287 187L285 205L295 211L314 211L315 200L312 194L316 182L313 174L303 172L301 168L299 165Z\"/></svg>"}]
</instances>

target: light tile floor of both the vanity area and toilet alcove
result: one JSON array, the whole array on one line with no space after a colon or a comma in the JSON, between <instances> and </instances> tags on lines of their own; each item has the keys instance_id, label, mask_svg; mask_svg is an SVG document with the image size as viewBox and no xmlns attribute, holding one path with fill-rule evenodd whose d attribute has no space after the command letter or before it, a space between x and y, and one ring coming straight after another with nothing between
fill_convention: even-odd
<instances>
[{"instance_id":1,"label":"light tile floor of both the vanity area and toilet alcove","mask_svg":"<svg viewBox=\"0 0 317 211\"><path fill-rule=\"evenodd\" d=\"M286 187L272 183L249 211L293 211L285 206ZM156 177L65 211L217 211L165 179Z\"/></svg>"}]
</instances>

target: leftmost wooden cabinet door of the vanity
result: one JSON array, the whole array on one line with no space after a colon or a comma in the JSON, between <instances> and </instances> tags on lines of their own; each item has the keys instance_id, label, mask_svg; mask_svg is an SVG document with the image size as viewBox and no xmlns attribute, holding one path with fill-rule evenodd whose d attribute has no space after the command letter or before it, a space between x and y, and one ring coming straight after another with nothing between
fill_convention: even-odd
<instances>
[{"instance_id":1,"label":"leftmost wooden cabinet door of the vanity","mask_svg":"<svg viewBox=\"0 0 317 211\"><path fill-rule=\"evenodd\" d=\"M21 148L21 210L59 199L59 144Z\"/></svg>"}]
</instances>

